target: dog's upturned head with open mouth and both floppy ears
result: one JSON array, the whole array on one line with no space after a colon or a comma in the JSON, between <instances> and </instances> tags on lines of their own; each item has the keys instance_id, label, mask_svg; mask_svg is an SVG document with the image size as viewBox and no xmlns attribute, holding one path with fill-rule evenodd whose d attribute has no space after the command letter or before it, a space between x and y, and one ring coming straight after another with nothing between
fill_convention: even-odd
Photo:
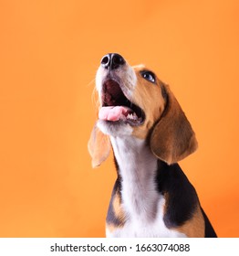
<instances>
[{"instance_id":1,"label":"dog's upturned head with open mouth and both floppy ears","mask_svg":"<svg viewBox=\"0 0 239 256\"><path fill-rule=\"evenodd\" d=\"M149 140L151 152L169 165L192 154L195 134L169 86L143 65L131 67L119 54L101 59L96 76L99 120L88 150L92 165L109 155L109 136Z\"/></svg>"}]
</instances>

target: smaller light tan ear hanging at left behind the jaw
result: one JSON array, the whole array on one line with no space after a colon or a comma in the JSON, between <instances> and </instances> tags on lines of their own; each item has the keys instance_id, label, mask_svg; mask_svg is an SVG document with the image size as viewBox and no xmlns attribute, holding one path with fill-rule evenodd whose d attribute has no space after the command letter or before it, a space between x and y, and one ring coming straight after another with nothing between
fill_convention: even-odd
<instances>
[{"instance_id":1,"label":"smaller light tan ear hanging at left behind the jaw","mask_svg":"<svg viewBox=\"0 0 239 256\"><path fill-rule=\"evenodd\" d=\"M88 140L88 152L92 158L91 165L93 168L101 165L110 153L109 136L102 133L97 124L94 125Z\"/></svg>"}]
</instances>

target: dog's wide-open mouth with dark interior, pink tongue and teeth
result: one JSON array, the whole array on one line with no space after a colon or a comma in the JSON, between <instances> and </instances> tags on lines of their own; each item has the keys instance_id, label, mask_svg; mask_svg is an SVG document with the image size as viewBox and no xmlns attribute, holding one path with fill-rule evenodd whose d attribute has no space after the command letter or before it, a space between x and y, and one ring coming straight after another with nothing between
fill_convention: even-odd
<instances>
[{"instance_id":1,"label":"dog's wide-open mouth with dark interior, pink tongue and teeth","mask_svg":"<svg viewBox=\"0 0 239 256\"><path fill-rule=\"evenodd\" d=\"M143 123L145 114L140 107L127 99L117 81L109 79L103 84L99 119L111 122L123 121L130 123L131 126L138 126Z\"/></svg>"}]
</instances>

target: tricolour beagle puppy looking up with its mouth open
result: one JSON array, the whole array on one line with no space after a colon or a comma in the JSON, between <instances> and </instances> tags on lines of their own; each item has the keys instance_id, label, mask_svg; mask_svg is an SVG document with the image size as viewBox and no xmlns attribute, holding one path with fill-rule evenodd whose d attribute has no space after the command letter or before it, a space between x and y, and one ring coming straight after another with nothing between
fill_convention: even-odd
<instances>
[{"instance_id":1,"label":"tricolour beagle puppy looking up with its mouth open","mask_svg":"<svg viewBox=\"0 0 239 256\"><path fill-rule=\"evenodd\" d=\"M195 134L168 85L117 53L96 76L99 120L88 141L92 165L112 146L117 180L107 237L216 237L178 161L197 148Z\"/></svg>"}]
</instances>

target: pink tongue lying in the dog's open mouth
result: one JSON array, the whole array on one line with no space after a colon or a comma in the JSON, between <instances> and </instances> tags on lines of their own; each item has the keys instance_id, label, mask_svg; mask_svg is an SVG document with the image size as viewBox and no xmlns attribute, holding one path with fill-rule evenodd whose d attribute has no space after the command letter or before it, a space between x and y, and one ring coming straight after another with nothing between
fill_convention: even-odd
<instances>
[{"instance_id":1,"label":"pink tongue lying in the dog's open mouth","mask_svg":"<svg viewBox=\"0 0 239 256\"><path fill-rule=\"evenodd\" d=\"M128 113L132 112L130 108L123 106L102 107L99 110L99 119L104 121L119 121L125 120Z\"/></svg>"}]
</instances>

